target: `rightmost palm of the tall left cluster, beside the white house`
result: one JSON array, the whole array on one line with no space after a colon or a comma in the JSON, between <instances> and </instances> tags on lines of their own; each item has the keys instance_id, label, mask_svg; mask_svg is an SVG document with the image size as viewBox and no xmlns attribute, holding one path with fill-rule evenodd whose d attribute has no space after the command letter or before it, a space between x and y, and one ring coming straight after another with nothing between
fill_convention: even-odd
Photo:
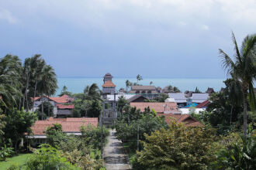
<instances>
[{"instance_id":1,"label":"rightmost palm of the tall left cluster, beside the white house","mask_svg":"<svg viewBox=\"0 0 256 170\"><path fill-rule=\"evenodd\" d=\"M54 72L54 68L52 66L46 65L43 68L42 76L40 81L38 82L38 87L39 91L41 93L41 114L42 114L42 120L43 120L43 95L47 94L48 95L48 101L49 101L49 96L53 95L56 93L57 89L57 77ZM48 116L50 115L49 113L49 108L48 108Z\"/></svg>"}]
</instances>

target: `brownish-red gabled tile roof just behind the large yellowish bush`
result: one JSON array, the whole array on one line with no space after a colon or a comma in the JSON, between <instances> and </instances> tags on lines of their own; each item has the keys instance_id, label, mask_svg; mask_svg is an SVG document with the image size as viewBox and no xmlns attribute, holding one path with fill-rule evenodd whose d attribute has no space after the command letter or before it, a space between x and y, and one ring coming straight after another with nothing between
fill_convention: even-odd
<instances>
[{"instance_id":1,"label":"brownish-red gabled tile roof just behind the large yellowish bush","mask_svg":"<svg viewBox=\"0 0 256 170\"><path fill-rule=\"evenodd\" d=\"M199 121L195 120L195 118L191 117L189 114L157 114L158 116L164 116L165 122L171 124L171 119L175 119L178 123L183 123L185 126L189 127L201 127Z\"/></svg>"}]
</instances>

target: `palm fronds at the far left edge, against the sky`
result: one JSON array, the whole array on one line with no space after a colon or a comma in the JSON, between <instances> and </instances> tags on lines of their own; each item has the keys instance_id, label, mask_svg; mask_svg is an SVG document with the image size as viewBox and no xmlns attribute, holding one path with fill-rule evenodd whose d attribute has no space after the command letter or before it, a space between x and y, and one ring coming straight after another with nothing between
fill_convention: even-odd
<instances>
[{"instance_id":1,"label":"palm fronds at the far left edge, against the sky","mask_svg":"<svg viewBox=\"0 0 256 170\"><path fill-rule=\"evenodd\" d=\"M16 100L21 97L22 63L18 56L6 55L0 59L0 107L16 106Z\"/></svg>"}]
</instances>

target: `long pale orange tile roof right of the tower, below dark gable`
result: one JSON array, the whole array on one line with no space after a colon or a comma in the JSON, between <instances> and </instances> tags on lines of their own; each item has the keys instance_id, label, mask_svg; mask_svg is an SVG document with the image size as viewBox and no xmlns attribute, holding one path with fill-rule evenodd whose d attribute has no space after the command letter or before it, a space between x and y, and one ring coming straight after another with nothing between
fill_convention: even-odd
<instances>
[{"instance_id":1,"label":"long pale orange tile roof right of the tower, below dark gable","mask_svg":"<svg viewBox=\"0 0 256 170\"><path fill-rule=\"evenodd\" d=\"M164 112L164 106L165 111L168 110L178 110L178 106L175 102L132 102L130 103L131 107L137 107L137 109L140 109L141 111L144 111L145 108L150 107L150 109L154 109L157 113L163 113Z\"/></svg>"}]
</instances>

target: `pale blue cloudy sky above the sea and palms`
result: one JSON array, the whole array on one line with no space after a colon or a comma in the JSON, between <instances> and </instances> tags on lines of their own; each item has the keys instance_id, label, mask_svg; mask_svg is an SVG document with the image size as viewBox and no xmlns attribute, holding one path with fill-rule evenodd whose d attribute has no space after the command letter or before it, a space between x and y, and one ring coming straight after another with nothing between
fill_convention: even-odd
<instances>
[{"instance_id":1,"label":"pale blue cloudy sky above the sea and palms","mask_svg":"<svg viewBox=\"0 0 256 170\"><path fill-rule=\"evenodd\" d=\"M58 77L223 78L256 32L256 0L0 0L0 57L40 53Z\"/></svg>"}]
</instances>

